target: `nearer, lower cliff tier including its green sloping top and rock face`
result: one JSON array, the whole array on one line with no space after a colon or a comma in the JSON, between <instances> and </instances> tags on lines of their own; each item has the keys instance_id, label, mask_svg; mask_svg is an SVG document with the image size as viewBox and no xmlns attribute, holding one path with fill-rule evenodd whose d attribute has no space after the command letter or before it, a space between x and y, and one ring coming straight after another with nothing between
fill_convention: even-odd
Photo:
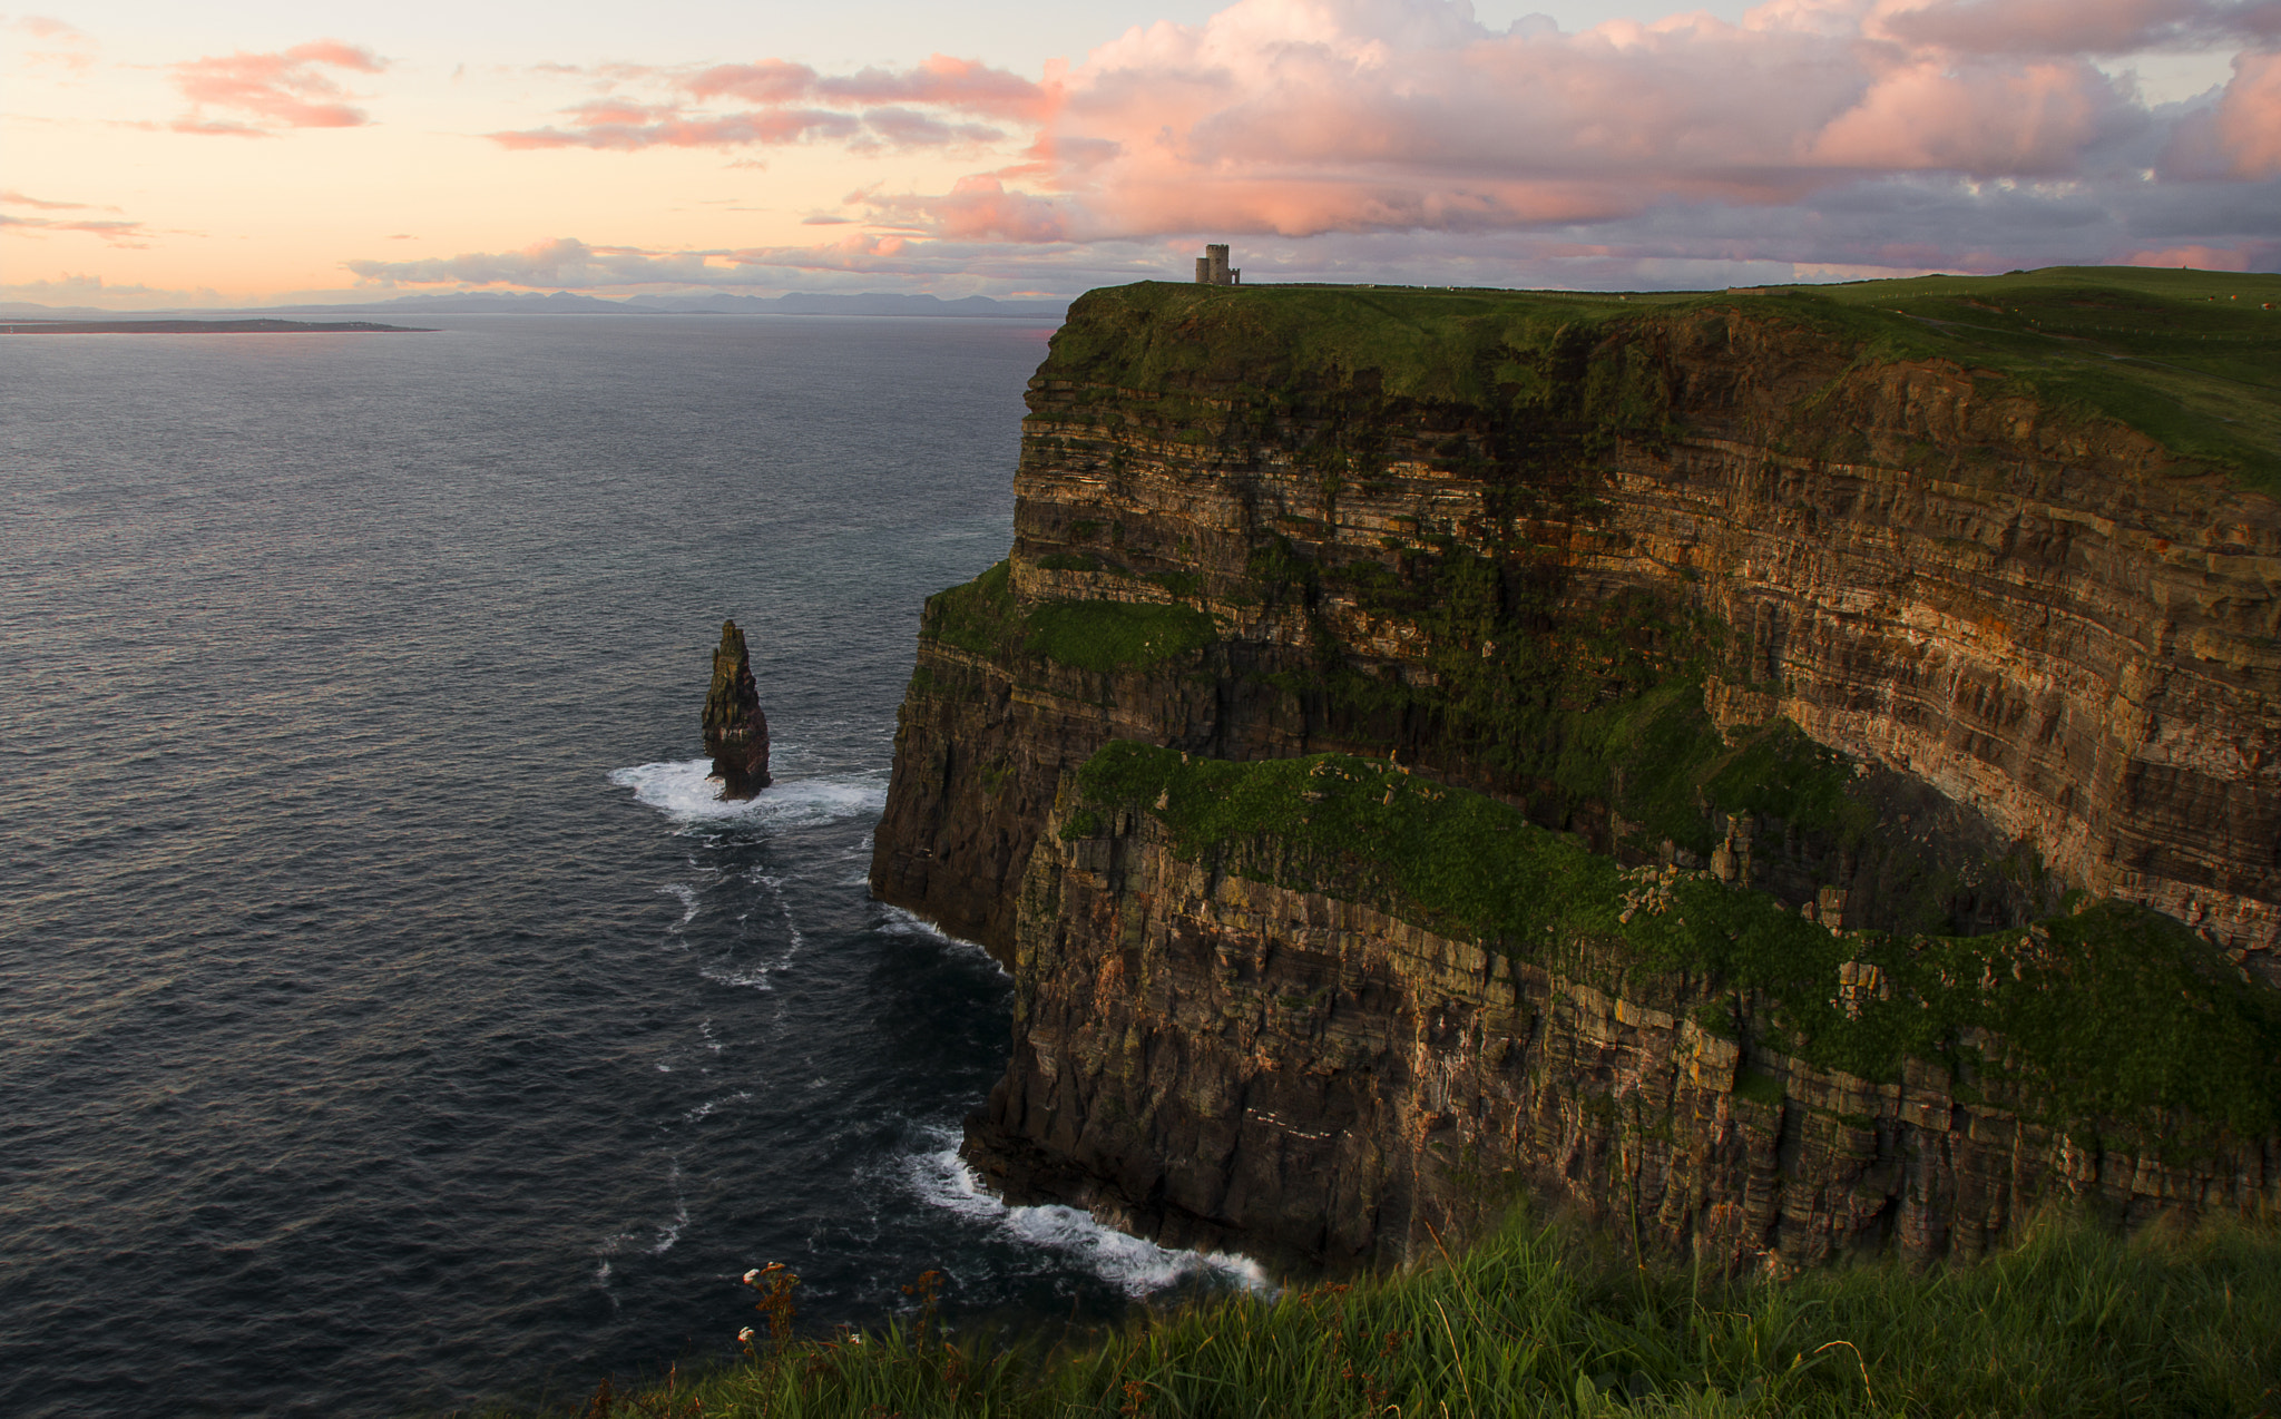
<instances>
[{"instance_id":1,"label":"nearer, lower cliff tier including its green sloping top and rock face","mask_svg":"<svg viewBox=\"0 0 2281 1419\"><path fill-rule=\"evenodd\" d=\"M1111 744L1015 942L967 1157L1172 1246L1403 1262L1515 1191L1718 1266L2281 1214L2281 999L2119 901L1832 929L1382 762Z\"/></svg>"}]
</instances>

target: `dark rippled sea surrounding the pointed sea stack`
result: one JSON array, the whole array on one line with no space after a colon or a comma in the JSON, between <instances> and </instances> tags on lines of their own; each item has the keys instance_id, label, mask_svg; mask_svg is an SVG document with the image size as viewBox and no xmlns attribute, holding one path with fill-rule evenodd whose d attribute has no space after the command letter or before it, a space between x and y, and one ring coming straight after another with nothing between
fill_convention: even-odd
<instances>
[{"instance_id":1,"label":"dark rippled sea surrounding the pointed sea stack","mask_svg":"<svg viewBox=\"0 0 2281 1419\"><path fill-rule=\"evenodd\" d=\"M1243 1271L979 1195L864 892L1031 322L0 340L0 1412L397 1414ZM778 787L712 801L723 616Z\"/></svg>"}]
</instances>

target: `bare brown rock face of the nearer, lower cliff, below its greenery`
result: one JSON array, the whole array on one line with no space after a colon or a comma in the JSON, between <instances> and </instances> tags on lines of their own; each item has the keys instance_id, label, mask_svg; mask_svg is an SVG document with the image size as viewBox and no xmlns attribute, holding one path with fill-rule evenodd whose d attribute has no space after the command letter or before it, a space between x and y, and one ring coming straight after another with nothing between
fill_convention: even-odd
<instances>
[{"instance_id":1,"label":"bare brown rock face of the nearer, lower cliff, below its greenery","mask_svg":"<svg viewBox=\"0 0 2281 1419\"><path fill-rule=\"evenodd\" d=\"M1257 846L1184 860L1145 810L1099 837L1065 824L1024 876L1015 1054L969 1129L1010 1200L1298 1266L1432 1255L1515 1186L1724 1266L1978 1255L2051 1195L2121 1218L2281 1209L2281 1138L2055 1125L2048 1081L1982 1029L1864 1079L1772 1047L1770 997L1713 1033L1704 974L1613 983L1613 938L1515 958L1259 881ZM2007 990L2037 990L2037 949L1991 951L2030 960ZM1859 965L1829 974L1880 995Z\"/></svg>"}]
</instances>

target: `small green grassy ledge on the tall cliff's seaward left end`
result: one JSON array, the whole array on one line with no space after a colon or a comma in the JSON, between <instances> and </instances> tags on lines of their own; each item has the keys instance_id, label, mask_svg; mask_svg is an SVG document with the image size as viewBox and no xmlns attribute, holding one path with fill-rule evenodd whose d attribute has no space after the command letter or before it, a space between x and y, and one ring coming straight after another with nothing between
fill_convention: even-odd
<instances>
[{"instance_id":1,"label":"small green grassy ledge on the tall cliff's seaward left end","mask_svg":"<svg viewBox=\"0 0 2281 1419\"><path fill-rule=\"evenodd\" d=\"M1200 650L1218 639L1209 614L1161 602L1040 602L1022 609L1010 563L926 598L922 634L988 657L1038 655L1111 673Z\"/></svg>"}]
</instances>

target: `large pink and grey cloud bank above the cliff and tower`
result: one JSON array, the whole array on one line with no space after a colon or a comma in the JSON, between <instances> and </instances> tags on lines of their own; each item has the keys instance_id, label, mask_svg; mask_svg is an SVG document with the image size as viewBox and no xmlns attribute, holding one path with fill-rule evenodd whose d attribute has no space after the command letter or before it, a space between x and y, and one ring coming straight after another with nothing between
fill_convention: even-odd
<instances>
[{"instance_id":1,"label":"large pink and grey cloud bank above the cliff and tower","mask_svg":"<svg viewBox=\"0 0 2281 1419\"><path fill-rule=\"evenodd\" d=\"M2231 55L2229 80L2144 100L2130 59L2181 50ZM1239 0L1036 80L944 55L842 75L755 59L588 78L607 94L488 137L969 162L947 189L860 189L810 217L862 228L817 260L912 274L940 251L999 249L1042 281L1136 262L1177 274L1175 251L1207 237L1245 242L1261 278L1432 283L2281 260L2281 0L1768 0L1740 23L1583 32L1544 16L1492 30L1451 0ZM566 278L536 283L750 269L737 253L675 265L577 246ZM557 271L531 251L354 269Z\"/></svg>"}]
</instances>

